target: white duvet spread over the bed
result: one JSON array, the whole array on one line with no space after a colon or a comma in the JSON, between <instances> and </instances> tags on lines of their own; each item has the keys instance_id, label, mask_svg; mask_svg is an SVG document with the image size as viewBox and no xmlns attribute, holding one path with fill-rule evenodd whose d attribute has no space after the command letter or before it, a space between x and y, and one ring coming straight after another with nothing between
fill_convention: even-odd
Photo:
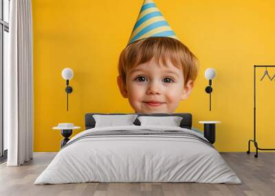
<instances>
[{"instance_id":1,"label":"white duvet spread over the bed","mask_svg":"<svg viewBox=\"0 0 275 196\"><path fill-rule=\"evenodd\" d=\"M120 135L81 138L90 132L180 130L180 127L98 127L74 136L34 184L78 182L202 182L241 184L219 152L181 136ZM81 138L81 139L79 139ZM206 138L203 138L206 140ZM71 143L69 145L69 143Z\"/></svg>"}]
</instances>

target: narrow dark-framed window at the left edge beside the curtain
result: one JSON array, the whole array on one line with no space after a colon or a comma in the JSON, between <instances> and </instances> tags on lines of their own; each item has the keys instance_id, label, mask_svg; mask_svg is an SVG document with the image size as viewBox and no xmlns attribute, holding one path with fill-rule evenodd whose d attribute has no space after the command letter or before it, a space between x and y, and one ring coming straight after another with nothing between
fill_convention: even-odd
<instances>
[{"instance_id":1,"label":"narrow dark-framed window at the left edge beside the curtain","mask_svg":"<svg viewBox=\"0 0 275 196\"><path fill-rule=\"evenodd\" d=\"M0 0L0 162L7 154L7 133L3 129L3 67L8 63L10 0Z\"/></svg>"}]
</instances>

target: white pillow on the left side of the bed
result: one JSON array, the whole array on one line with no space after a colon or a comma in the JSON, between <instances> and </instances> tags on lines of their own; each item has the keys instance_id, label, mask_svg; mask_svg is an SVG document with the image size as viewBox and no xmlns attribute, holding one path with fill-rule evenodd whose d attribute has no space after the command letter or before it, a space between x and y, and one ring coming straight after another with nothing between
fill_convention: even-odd
<instances>
[{"instance_id":1,"label":"white pillow on the left side of the bed","mask_svg":"<svg viewBox=\"0 0 275 196\"><path fill-rule=\"evenodd\" d=\"M128 126L134 125L133 122L137 118L137 114L125 115L93 115L96 125L95 127L113 127L113 126Z\"/></svg>"}]
</instances>

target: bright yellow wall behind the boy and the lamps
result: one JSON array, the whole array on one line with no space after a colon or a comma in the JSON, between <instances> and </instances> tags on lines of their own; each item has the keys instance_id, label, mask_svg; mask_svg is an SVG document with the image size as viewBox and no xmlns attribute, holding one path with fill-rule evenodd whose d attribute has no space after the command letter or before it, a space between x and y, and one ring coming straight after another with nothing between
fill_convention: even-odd
<instances>
[{"instance_id":1,"label":"bright yellow wall behind the boy and the lamps","mask_svg":"<svg viewBox=\"0 0 275 196\"><path fill-rule=\"evenodd\" d=\"M34 151L58 151L52 130L61 122L84 127L87 112L133 112L116 85L117 63L131 34L142 0L33 0ZM246 151L253 136L253 65L275 64L275 1L155 0L177 36L195 53L200 72L192 95L176 112L198 121L218 120L219 151ZM74 70L66 111L61 71ZM204 71L213 80L212 112ZM272 75L275 69L270 69ZM257 71L261 77L263 70ZM260 147L275 145L275 84L258 82ZM273 116L273 117L272 117ZM74 132L74 134L84 129Z\"/></svg>"}]
</instances>

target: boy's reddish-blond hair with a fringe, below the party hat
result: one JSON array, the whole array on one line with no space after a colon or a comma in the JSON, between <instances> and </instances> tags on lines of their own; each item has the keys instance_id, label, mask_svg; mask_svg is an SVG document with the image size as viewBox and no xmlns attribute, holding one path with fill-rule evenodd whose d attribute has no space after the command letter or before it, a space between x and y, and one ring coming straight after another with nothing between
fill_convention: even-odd
<instances>
[{"instance_id":1,"label":"boy's reddish-blond hair with a fringe, below the party hat","mask_svg":"<svg viewBox=\"0 0 275 196\"><path fill-rule=\"evenodd\" d=\"M138 64L150 61L152 58L167 65L168 60L182 67L184 84L190 79L195 81L199 72L196 56L179 40L166 37L152 37L128 45L121 53L118 62L118 73L126 85L126 73Z\"/></svg>"}]
</instances>

